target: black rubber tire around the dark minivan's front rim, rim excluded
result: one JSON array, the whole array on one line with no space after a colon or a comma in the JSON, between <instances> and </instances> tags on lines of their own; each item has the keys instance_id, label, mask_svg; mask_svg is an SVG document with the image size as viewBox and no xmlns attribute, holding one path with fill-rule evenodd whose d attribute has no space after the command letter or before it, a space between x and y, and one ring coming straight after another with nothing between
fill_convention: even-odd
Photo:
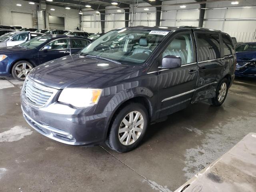
<instances>
[{"instance_id":1,"label":"black rubber tire around the dark minivan's front rim, rim excluded","mask_svg":"<svg viewBox=\"0 0 256 192\"><path fill-rule=\"evenodd\" d=\"M138 138L138 140L136 140L136 142L134 142L133 144L126 146L123 145L118 138L118 130L119 130L119 126L123 120L123 118L132 111L138 111L142 114L143 119L144 119L144 127L142 130L142 133L140 134L140 137ZM148 111L146 110L146 108L142 105L142 104L138 104L138 103L131 103L128 104L127 106L125 106L124 108L122 108L121 110L118 111L118 114L116 115L113 124L111 126L111 134L110 134L110 142L112 147L114 148L114 150L116 150L117 152L128 152L134 148L136 148L136 146L141 142L141 140L144 137L144 134L146 132L146 129L148 127Z\"/></svg>"}]
</instances>

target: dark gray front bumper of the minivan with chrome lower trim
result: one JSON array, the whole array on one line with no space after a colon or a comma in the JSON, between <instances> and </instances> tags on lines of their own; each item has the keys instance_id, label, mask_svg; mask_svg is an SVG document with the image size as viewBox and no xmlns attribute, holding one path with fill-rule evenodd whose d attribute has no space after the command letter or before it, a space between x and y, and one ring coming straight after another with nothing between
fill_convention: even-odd
<instances>
[{"instance_id":1,"label":"dark gray front bumper of the minivan with chrome lower trim","mask_svg":"<svg viewBox=\"0 0 256 192\"><path fill-rule=\"evenodd\" d=\"M94 114L95 106L77 109L50 98L43 107L33 106L21 91L21 108L25 120L40 134L70 145L95 145L106 139L112 112Z\"/></svg>"}]
</instances>

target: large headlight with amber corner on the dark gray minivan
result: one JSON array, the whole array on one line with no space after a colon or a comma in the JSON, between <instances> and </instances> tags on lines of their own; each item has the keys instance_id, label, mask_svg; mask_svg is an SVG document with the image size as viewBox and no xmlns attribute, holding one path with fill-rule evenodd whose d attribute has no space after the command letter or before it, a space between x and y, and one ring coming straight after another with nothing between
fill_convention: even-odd
<instances>
[{"instance_id":1,"label":"large headlight with amber corner on the dark gray minivan","mask_svg":"<svg viewBox=\"0 0 256 192\"><path fill-rule=\"evenodd\" d=\"M88 107L98 103L101 92L102 89L66 88L60 93L58 101L78 108Z\"/></svg>"}]
</instances>

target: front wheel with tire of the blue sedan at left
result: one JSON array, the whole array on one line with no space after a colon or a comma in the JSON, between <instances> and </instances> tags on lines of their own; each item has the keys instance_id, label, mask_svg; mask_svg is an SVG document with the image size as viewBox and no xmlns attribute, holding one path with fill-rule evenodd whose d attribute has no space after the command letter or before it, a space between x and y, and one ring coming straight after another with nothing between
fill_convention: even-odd
<instances>
[{"instance_id":1,"label":"front wheel with tire of the blue sedan at left","mask_svg":"<svg viewBox=\"0 0 256 192\"><path fill-rule=\"evenodd\" d=\"M32 68L34 66L30 62L18 61L12 67L12 76L19 81L24 81Z\"/></svg>"}]
</instances>

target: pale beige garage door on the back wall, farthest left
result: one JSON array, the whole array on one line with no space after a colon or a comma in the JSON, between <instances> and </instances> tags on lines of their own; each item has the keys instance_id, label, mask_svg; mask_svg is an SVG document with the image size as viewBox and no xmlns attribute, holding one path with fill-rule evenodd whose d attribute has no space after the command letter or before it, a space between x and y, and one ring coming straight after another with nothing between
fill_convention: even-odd
<instances>
[{"instance_id":1,"label":"pale beige garage door on the back wall, farthest left","mask_svg":"<svg viewBox=\"0 0 256 192\"><path fill-rule=\"evenodd\" d=\"M30 13L12 12L12 25L33 28L33 16Z\"/></svg>"}]
</instances>

